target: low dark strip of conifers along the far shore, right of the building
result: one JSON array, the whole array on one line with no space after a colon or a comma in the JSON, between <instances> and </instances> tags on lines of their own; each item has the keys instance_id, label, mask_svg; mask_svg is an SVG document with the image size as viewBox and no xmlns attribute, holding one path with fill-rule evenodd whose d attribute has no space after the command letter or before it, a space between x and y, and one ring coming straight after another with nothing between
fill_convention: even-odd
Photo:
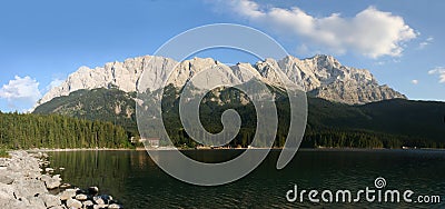
<instances>
[{"instance_id":1,"label":"low dark strip of conifers along the far shore, right of the building","mask_svg":"<svg viewBox=\"0 0 445 209\"><path fill-rule=\"evenodd\" d=\"M229 142L230 147L253 146L255 128L241 128L237 137ZM176 147L195 148L199 146L191 140L184 129L169 131L169 137ZM278 129L274 147L281 148L285 146L287 132ZM167 145L167 143L164 143ZM263 145L264 146L264 145ZM256 146L254 146L256 147ZM258 145L257 147L261 147ZM445 148L444 142L428 139L417 139L407 136L395 136L388 133L378 133L360 130L318 130L306 131L303 138L301 148L387 148L400 149L408 148Z\"/></svg>"}]
</instances>

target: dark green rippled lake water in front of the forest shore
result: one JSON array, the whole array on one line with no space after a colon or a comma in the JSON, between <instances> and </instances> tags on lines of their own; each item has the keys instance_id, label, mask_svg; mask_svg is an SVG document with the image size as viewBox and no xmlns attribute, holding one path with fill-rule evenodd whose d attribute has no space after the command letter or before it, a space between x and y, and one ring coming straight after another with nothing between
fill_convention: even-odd
<instances>
[{"instance_id":1,"label":"dark green rippled lake water in front of the forest shore","mask_svg":"<svg viewBox=\"0 0 445 209\"><path fill-rule=\"evenodd\" d=\"M168 152L168 151L166 151ZM241 150L188 150L187 156L204 161L221 161ZM65 182L88 188L97 186L125 208L444 208L445 151L443 150L299 150L283 170L276 170L279 150L245 178L218 187L191 186L165 173L146 151L49 152L51 167L61 171ZM439 196L439 203L289 202L287 191L358 190L375 188L375 179L386 180L386 190L414 191L417 196ZM377 190L377 189L376 189ZM376 191L377 192L377 191ZM328 197L328 196L327 196ZM335 198L335 197L334 197ZM424 199L425 197L423 197ZM320 199L320 195L318 195ZM400 197L402 199L402 197ZM431 200L432 201L432 200Z\"/></svg>"}]
</instances>

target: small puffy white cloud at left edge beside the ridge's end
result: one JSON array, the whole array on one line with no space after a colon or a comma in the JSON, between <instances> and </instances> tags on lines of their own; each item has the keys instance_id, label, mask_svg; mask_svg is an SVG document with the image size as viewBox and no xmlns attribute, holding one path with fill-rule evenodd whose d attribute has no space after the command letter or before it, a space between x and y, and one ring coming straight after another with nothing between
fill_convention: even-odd
<instances>
[{"instance_id":1,"label":"small puffy white cloud at left edge beside the ridge's end","mask_svg":"<svg viewBox=\"0 0 445 209\"><path fill-rule=\"evenodd\" d=\"M8 84L3 84L0 89L0 98L8 100L8 106L23 107L32 106L41 98L39 82L30 77L14 77Z\"/></svg>"}]
</instances>

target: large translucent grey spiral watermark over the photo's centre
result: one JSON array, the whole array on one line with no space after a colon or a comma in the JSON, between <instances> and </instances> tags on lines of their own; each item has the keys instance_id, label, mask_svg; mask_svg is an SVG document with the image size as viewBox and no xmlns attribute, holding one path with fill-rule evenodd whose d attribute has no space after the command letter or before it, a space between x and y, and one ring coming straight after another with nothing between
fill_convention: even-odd
<instances>
[{"instance_id":1,"label":"large translucent grey spiral watermark over the photo's centre","mask_svg":"<svg viewBox=\"0 0 445 209\"><path fill-rule=\"evenodd\" d=\"M178 34L160 47L144 62L145 71L138 81L137 122L146 150L151 159L170 176L198 186L217 186L235 181L253 171L266 158L274 145L278 129L277 108L274 93L258 72L237 66L229 68L219 62L206 64L195 70L191 78L180 82L181 66L190 54L228 48L248 52L260 60L283 59L286 50L273 38L256 29L239 24L209 24ZM276 77L286 91L290 104L290 126L284 149L277 161L277 169L284 168L294 157L301 142L307 120L307 100L304 88L294 83L278 69L277 64L264 62L263 69ZM188 158L177 149L162 151L159 141L172 145L162 120L162 98L165 89L174 83L180 89L179 117L188 137L206 146L222 146L230 142L240 129L240 117L234 109L221 116L224 129L219 133L208 132L199 120L199 106L210 90L229 87L246 93L255 106L257 126L253 147L229 161L205 163ZM158 149L152 149L157 147Z\"/></svg>"}]
</instances>

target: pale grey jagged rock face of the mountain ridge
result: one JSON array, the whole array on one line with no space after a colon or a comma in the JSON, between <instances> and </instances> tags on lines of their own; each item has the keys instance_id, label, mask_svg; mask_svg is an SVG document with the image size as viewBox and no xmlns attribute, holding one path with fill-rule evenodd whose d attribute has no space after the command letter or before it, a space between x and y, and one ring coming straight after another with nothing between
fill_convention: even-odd
<instances>
[{"instance_id":1,"label":"pale grey jagged rock face of the mountain ridge","mask_svg":"<svg viewBox=\"0 0 445 209\"><path fill-rule=\"evenodd\" d=\"M167 70L174 68L168 83L176 87L182 87L194 74L208 68L219 68L220 73L229 76L226 78L237 78L240 81L257 78L268 84L283 87L279 74L273 70L277 69L278 73L303 87L309 94L332 101L354 104L406 98L387 86L379 86L368 70L345 67L330 56L315 56L303 60L289 56L281 60L266 59L254 66L238 63L233 67L227 67L210 58L194 58L178 63L169 58L145 56L127 59L123 62L109 62L95 69L81 67L62 84L44 94L37 106L56 97L68 96L79 89L119 88L126 92L137 91L139 77L144 70L150 70L154 73L142 78L145 81L148 80L147 87L139 88L157 90L162 86L162 79L167 78ZM240 69L251 73L245 73L246 71ZM211 79L218 78L222 77L216 74Z\"/></svg>"}]
</instances>

